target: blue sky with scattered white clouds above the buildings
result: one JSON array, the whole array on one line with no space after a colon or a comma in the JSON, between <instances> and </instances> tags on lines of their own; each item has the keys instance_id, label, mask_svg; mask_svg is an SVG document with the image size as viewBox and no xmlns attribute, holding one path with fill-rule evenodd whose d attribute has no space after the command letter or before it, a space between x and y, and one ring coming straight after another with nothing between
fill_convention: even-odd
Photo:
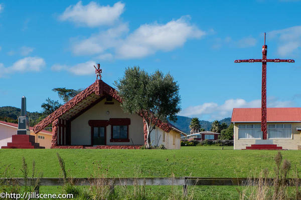
<instances>
[{"instance_id":1,"label":"blue sky with scattered white clouds above the buildings","mask_svg":"<svg viewBox=\"0 0 301 200\"><path fill-rule=\"evenodd\" d=\"M263 32L268 107L301 106L301 0L0 0L0 106L42 111L55 87L86 88L100 63L113 83L128 66L170 72L179 115L215 120L260 107Z\"/></svg>"}]
</instances>

